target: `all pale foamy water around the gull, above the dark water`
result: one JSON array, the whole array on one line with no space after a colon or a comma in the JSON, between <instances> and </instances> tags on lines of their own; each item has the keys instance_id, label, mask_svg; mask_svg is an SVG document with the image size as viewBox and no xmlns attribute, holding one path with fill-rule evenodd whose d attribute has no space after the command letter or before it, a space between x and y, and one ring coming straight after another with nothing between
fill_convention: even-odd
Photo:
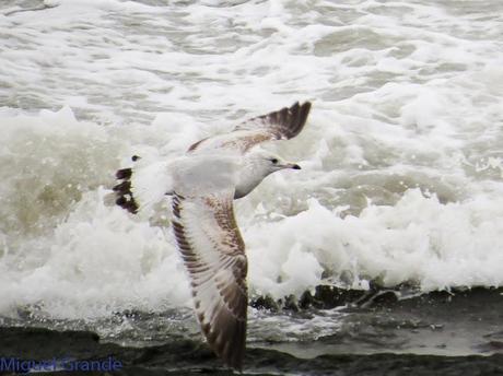
<instances>
[{"instance_id":1,"label":"all pale foamy water around the gull, above the dark water","mask_svg":"<svg viewBox=\"0 0 503 376\"><path fill-rule=\"evenodd\" d=\"M0 5L0 314L190 305L168 202L150 221L106 205L115 171L303 99L306 129L268 146L303 169L236 203L252 295L502 284L491 7L46 3Z\"/></svg>"}]
</instances>

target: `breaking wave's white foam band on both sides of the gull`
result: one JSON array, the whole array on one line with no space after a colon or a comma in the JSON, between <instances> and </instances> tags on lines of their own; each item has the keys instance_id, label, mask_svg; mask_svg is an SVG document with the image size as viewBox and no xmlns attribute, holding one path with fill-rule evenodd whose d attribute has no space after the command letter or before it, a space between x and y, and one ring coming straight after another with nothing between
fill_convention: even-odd
<instances>
[{"instance_id":1,"label":"breaking wave's white foam band on both sides of the gull","mask_svg":"<svg viewBox=\"0 0 503 376\"><path fill-rule=\"evenodd\" d=\"M167 202L157 221L106 203L118 154L134 149L122 131L78 121L69 108L3 113L2 124L3 314L35 306L78 318L190 305ZM271 176L236 201L252 296L300 295L323 283L366 289L371 280L423 291L503 283L501 197L480 191L441 202L434 192L402 188L393 204L369 199L352 213L351 205L321 203L330 190L306 197L308 185L297 188L303 178L289 191L299 178ZM281 191L292 199L274 199Z\"/></svg>"}]
</instances>

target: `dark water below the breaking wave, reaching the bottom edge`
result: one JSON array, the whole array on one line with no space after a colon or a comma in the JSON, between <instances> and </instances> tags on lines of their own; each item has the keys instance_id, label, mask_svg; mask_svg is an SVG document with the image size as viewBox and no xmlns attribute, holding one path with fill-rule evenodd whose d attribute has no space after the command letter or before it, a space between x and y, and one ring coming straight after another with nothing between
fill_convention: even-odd
<instances>
[{"instance_id":1,"label":"dark water below the breaking wave, reaching the bottom edge","mask_svg":"<svg viewBox=\"0 0 503 376\"><path fill-rule=\"evenodd\" d=\"M318 287L314 296L304 295L300 301L279 304L262 299L253 304L262 306L264 315L290 315L292 319L332 309L348 315L342 316L340 330L332 336L252 343L244 375L503 375L503 289L400 298L400 293L391 291L363 294ZM149 320L151 316L137 314L139 326ZM95 361L112 356L122 365L114 372L117 375L233 374L192 333L166 334L162 342L132 345L110 342L87 330L50 330L33 327L34 322L27 328L7 319L2 322L3 357ZM40 373L48 374L66 372Z\"/></svg>"}]
</instances>

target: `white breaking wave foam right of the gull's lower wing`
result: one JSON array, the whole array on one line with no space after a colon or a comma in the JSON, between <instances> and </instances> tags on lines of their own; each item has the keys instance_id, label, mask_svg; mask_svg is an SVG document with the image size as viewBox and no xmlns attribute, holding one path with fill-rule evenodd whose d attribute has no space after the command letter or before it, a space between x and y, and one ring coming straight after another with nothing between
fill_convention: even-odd
<instances>
[{"instance_id":1,"label":"white breaking wave foam right of the gull's lower wing","mask_svg":"<svg viewBox=\"0 0 503 376\"><path fill-rule=\"evenodd\" d=\"M295 216L247 228L250 281L274 297L323 284L321 270L356 289L370 279L416 281L424 291L501 285L503 228L493 220L503 215L501 203L479 197L442 204L416 189L394 207L342 219L312 199Z\"/></svg>"}]
</instances>

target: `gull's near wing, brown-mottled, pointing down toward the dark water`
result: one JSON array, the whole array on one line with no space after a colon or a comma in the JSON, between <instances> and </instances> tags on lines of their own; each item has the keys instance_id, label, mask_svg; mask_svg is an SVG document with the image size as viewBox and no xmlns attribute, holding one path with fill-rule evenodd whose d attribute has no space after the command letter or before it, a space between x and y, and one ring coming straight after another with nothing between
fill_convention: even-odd
<instances>
[{"instance_id":1,"label":"gull's near wing, brown-mottled, pointing down toward the dark water","mask_svg":"<svg viewBox=\"0 0 503 376\"><path fill-rule=\"evenodd\" d=\"M233 192L173 198L173 228L190 274L196 314L212 350L242 369L246 341L247 260Z\"/></svg>"}]
</instances>

